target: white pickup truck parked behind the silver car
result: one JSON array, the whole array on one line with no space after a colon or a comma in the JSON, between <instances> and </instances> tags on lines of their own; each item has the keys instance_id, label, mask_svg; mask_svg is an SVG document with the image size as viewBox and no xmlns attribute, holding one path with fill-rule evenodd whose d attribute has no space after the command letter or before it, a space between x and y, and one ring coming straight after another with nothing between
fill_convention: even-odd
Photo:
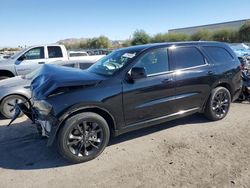
<instances>
[{"instance_id":1,"label":"white pickup truck parked behind the silver car","mask_svg":"<svg viewBox=\"0 0 250 188\"><path fill-rule=\"evenodd\" d=\"M81 61L97 61L103 56L79 57ZM71 60L64 45L40 45L24 49L9 59L0 60L0 80L18 75L26 75L39 66L56 61ZM74 60L76 58L74 57Z\"/></svg>"}]
</instances>

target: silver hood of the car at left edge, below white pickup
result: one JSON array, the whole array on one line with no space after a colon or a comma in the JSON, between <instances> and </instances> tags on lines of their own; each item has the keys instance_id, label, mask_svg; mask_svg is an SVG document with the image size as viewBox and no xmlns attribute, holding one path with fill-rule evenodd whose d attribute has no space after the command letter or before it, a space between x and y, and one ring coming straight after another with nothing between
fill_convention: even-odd
<instances>
[{"instance_id":1,"label":"silver hood of the car at left edge, below white pickup","mask_svg":"<svg viewBox=\"0 0 250 188\"><path fill-rule=\"evenodd\" d=\"M13 78L8 78L4 80L0 80L0 88L5 89L5 88L11 88L11 87L25 87L30 85L31 80L25 79L22 76L16 76Z\"/></svg>"}]
</instances>

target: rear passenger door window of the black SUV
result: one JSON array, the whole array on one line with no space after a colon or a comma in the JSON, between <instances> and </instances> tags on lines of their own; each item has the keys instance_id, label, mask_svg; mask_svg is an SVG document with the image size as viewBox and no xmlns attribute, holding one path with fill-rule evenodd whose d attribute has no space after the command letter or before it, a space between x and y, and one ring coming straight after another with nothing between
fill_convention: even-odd
<instances>
[{"instance_id":1,"label":"rear passenger door window of the black SUV","mask_svg":"<svg viewBox=\"0 0 250 188\"><path fill-rule=\"evenodd\" d=\"M205 64L203 55L195 47L177 47L172 50L172 53L175 62L171 69L184 69Z\"/></svg>"}]
</instances>

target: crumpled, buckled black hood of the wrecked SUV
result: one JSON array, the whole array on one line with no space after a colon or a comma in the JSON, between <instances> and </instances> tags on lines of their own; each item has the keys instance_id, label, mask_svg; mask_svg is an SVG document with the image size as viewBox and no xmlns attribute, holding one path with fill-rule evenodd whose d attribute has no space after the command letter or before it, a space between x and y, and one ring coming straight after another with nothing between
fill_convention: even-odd
<instances>
[{"instance_id":1,"label":"crumpled, buckled black hood of the wrecked SUV","mask_svg":"<svg viewBox=\"0 0 250 188\"><path fill-rule=\"evenodd\" d=\"M96 85L105 77L70 67L43 65L31 82L32 96L45 99L62 88L77 88Z\"/></svg>"}]
</instances>

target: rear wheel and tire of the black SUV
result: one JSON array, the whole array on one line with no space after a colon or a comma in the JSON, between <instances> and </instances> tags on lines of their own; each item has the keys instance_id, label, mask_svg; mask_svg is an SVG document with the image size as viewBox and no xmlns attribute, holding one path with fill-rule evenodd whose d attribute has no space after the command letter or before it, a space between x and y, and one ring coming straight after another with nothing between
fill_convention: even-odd
<instances>
[{"instance_id":1,"label":"rear wheel and tire of the black SUV","mask_svg":"<svg viewBox=\"0 0 250 188\"><path fill-rule=\"evenodd\" d=\"M205 116L212 121L226 117L231 104L231 94L224 87L214 88L205 107Z\"/></svg>"}]
</instances>

